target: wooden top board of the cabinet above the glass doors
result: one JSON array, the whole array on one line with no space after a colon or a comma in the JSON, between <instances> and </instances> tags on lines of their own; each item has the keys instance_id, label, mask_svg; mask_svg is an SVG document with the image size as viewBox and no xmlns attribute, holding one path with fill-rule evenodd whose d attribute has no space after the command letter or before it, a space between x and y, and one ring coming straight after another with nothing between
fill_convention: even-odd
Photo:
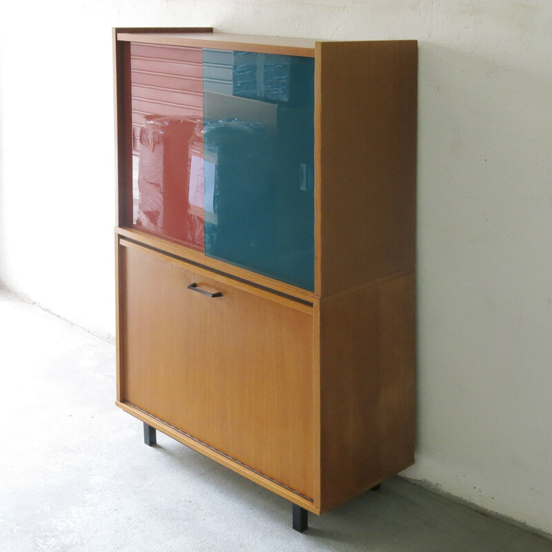
<instances>
[{"instance_id":1,"label":"wooden top board of the cabinet above the glass doors","mask_svg":"<svg viewBox=\"0 0 552 552\"><path fill-rule=\"evenodd\" d=\"M117 40L165 44L166 46L193 46L215 50L239 50L262 54L315 57L314 39L262 37L254 34L226 34L223 32L118 32Z\"/></svg>"}]
</instances>

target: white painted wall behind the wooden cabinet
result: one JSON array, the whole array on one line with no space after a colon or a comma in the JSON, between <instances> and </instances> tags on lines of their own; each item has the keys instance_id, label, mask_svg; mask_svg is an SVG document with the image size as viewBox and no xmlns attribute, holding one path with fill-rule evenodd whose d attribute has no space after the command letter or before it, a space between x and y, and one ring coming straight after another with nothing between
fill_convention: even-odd
<instances>
[{"instance_id":1,"label":"white painted wall behind the wooden cabinet","mask_svg":"<svg viewBox=\"0 0 552 552\"><path fill-rule=\"evenodd\" d=\"M549 1L10 10L0 19L0 280L103 335L114 332L112 26L418 39L420 429L405 475L552 533Z\"/></svg>"}]
</instances>

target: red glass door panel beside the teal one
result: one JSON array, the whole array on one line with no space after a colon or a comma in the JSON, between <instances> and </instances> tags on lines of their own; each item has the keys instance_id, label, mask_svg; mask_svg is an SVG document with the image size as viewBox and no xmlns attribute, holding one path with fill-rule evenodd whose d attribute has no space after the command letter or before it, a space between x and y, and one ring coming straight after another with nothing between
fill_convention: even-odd
<instances>
[{"instance_id":1,"label":"red glass door panel beside the teal one","mask_svg":"<svg viewBox=\"0 0 552 552\"><path fill-rule=\"evenodd\" d=\"M204 250L201 48L131 43L132 226Z\"/></svg>"}]
</instances>

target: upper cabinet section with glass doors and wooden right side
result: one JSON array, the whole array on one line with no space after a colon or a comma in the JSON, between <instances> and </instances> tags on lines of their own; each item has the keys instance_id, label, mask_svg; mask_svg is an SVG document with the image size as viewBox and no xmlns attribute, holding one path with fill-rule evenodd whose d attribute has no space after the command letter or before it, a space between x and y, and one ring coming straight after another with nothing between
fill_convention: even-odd
<instances>
[{"instance_id":1,"label":"upper cabinet section with glass doors and wooden right side","mask_svg":"<svg viewBox=\"0 0 552 552\"><path fill-rule=\"evenodd\" d=\"M415 41L177 31L115 30L119 226L302 298L411 272Z\"/></svg>"}]
</instances>

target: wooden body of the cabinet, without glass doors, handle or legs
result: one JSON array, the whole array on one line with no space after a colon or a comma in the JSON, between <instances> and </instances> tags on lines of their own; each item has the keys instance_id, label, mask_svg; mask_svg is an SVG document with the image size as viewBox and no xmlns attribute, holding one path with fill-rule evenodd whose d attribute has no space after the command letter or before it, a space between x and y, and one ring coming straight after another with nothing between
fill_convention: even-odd
<instances>
[{"instance_id":1,"label":"wooden body of the cabinet, without glass doors, handle or legs","mask_svg":"<svg viewBox=\"0 0 552 552\"><path fill-rule=\"evenodd\" d=\"M128 228L131 41L315 57L314 292ZM402 471L415 444L416 42L119 28L114 45L117 405L317 514Z\"/></svg>"}]
</instances>

